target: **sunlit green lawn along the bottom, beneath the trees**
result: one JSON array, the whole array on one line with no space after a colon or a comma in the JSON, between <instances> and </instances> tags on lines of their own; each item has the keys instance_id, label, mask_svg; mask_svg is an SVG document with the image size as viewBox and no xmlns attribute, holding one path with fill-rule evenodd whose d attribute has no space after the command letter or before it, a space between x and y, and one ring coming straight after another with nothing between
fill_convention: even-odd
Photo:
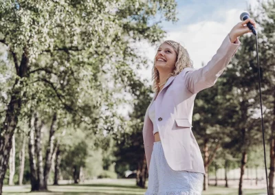
<instances>
[{"instance_id":1,"label":"sunlit green lawn along the bottom, beneath the trees","mask_svg":"<svg viewBox=\"0 0 275 195\"><path fill-rule=\"evenodd\" d=\"M134 179L118 179L118 180L96 180L90 183L79 184L79 185L67 185L62 184L59 186L49 186L51 192L32 192L30 193L30 185L23 186L4 186L3 195L23 195L23 194L40 194L40 195L87 195L87 194L98 194L98 195L117 195L117 194L144 194L146 191L140 187L135 186ZM225 188L225 187L209 187L203 195L218 195L218 194L237 194L237 189ZM267 194L266 190L244 190L243 194Z\"/></svg>"}]
</instances>

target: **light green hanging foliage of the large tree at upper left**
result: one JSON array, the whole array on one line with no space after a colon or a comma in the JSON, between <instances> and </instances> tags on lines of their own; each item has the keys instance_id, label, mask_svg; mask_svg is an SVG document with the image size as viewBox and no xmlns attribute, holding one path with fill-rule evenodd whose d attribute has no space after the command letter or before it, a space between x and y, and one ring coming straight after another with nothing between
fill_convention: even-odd
<instances>
[{"instance_id":1,"label":"light green hanging foliage of the large tree at upper left","mask_svg":"<svg viewBox=\"0 0 275 195\"><path fill-rule=\"evenodd\" d=\"M72 114L69 122L86 122L93 128L108 119L100 108L119 104L113 93L132 84L133 69L146 63L131 44L155 43L164 36L161 20L148 22L157 12L167 21L177 21L174 0L1 1L1 5L0 41L10 48L12 81L22 82L23 111L30 113L32 106L48 115L63 110ZM20 72L21 56L28 58L26 73Z\"/></svg>"}]
</instances>

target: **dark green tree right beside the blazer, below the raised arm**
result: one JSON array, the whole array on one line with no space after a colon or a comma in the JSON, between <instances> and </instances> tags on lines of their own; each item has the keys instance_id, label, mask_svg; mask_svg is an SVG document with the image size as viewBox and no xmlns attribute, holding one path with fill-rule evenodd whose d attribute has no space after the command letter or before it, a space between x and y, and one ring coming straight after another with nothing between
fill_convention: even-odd
<instances>
[{"instance_id":1,"label":"dark green tree right beside the blazer, below the raised arm","mask_svg":"<svg viewBox=\"0 0 275 195\"><path fill-rule=\"evenodd\" d=\"M232 128L230 119L235 111L228 95L230 87L221 76L213 87L200 91L195 99L192 132L203 151L206 171L203 190L208 189L208 168L219 148L228 140L228 131Z\"/></svg>"}]
</instances>

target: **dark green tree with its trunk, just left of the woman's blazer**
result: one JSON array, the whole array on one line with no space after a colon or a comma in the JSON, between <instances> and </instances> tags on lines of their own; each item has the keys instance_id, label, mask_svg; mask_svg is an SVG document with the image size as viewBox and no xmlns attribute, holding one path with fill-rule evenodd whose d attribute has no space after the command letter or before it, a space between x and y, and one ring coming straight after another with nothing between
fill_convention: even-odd
<instances>
[{"instance_id":1,"label":"dark green tree with its trunk, just left of the woman's blazer","mask_svg":"<svg viewBox=\"0 0 275 195\"><path fill-rule=\"evenodd\" d=\"M135 85L131 87L136 89L138 93L135 93L133 112L129 113L129 122L126 123L119 137L115 139L117 141L115 156L118 158L116 165L129 165L131 170L137 170L136 184L137 186L145 187L148 172L144 145L142 144L142 128L146 109L151 102L150 94L152 91L137 80Z\"/></svg>"}]
</instances>

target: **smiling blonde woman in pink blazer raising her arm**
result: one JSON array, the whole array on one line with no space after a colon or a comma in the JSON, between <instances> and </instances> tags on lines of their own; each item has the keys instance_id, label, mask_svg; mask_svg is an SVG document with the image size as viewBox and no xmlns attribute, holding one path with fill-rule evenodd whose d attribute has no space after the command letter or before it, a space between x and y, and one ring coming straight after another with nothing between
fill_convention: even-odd
<instances>
[{"instance_id":1,"label":"smiling blonde woman in pink blazer raising her arm","mask_svg":"<svg viewBox=\"0 0 275 195\"><path fill-rule=\"evenodd\" d=\"M142 132L149 176L146 195L201 194L205 170L191 130L195 96L221 76L240 45L238 37L251 32L249 21L256 28L253 19L236 24L201 69L192 68L179 43L165 41L159 46L152 77L155 95Z\"/></svg>"}]
</instances>

